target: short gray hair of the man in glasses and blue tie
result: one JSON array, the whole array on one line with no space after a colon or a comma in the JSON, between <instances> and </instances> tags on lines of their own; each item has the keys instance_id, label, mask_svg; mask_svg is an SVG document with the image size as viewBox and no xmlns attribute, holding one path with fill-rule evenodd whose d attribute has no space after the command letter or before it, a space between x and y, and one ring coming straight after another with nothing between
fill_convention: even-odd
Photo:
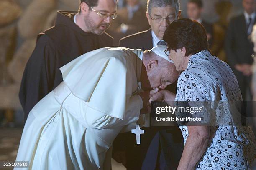
<instances>
[{"instance_id":1,"label":"short gray hair of the man in glasses and blue tie","mask_svg":"<svg viewBox=\"0 0 256 170\"><path fill-rule=\"evenodd\" d=\"M148 0L147 12L150 15L152 7L166 7L168 5L174 7L175 15L177 16L180 10L179 0Z\"/></svg>"}]
</instances>

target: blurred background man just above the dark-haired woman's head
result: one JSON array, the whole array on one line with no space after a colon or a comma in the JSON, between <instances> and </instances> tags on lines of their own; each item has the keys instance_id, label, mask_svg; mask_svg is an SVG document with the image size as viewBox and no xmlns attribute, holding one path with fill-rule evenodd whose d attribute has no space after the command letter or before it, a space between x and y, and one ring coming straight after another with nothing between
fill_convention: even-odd
<instances>
[{"instance_id":1,"label":"blurred background man just above the dark-haired woman's head","mask_svg":"<svg viewBox=\"0 0 256 170\"><path fill-rule=\"evenodd\" d=\"M213 41L213 28L212 24L202 20L201 13L203 10L202 0L189 0L187 3L187 16L191 20L197 20L198 23L205 27L206 35L208 38L209 47L211 48Z\"/></svg>"}]
</instances>

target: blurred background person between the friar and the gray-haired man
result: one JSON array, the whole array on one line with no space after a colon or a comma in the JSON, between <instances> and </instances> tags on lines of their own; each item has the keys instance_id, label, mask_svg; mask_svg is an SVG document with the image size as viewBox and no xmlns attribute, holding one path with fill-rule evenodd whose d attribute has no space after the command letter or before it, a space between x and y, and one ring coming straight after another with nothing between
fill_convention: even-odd
<instances>
[{"instance_id":1,"label":"blurred background person between the friar and the gray-haired man","mask_svg":"<svg viewBox=\"0 0 256 170\"><path fill-rule=\"evenodd\" d=\"M108 33L114 37L118 46L120 38L149 28L146 9L139 0L126 0L126 7L118 9L118 16L110 26Z\"/></svg>"}]
</instances>

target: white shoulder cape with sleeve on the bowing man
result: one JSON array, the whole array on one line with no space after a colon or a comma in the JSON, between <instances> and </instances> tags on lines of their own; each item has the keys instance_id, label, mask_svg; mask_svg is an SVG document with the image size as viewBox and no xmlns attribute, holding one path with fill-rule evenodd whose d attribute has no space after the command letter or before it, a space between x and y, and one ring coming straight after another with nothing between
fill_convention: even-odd
<instances>
[{"instance_id":1,"label":"white shoulder cape with sleeve on the bowing man","mask_svg":"<svg viewBox=\"0 0 256 170\"><path fill-rule=\"evenodd\" d=\"M81 119L91 128L122 128L138 120L143 102L134 94L138 83L133 55L122 48L103 48L60 68L64 83L87 105Z\"/></svg>"}]
</instances>

